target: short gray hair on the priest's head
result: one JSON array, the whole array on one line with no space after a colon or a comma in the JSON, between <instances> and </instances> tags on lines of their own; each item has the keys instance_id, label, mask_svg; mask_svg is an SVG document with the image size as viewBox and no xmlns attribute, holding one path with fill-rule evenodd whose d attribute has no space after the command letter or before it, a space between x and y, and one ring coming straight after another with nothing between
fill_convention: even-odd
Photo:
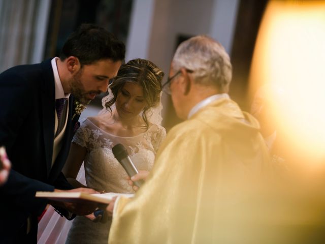
<instances>
[{"instance_id":1,"label":"short gray hair on the priest's head","mask_svg":"<svg viewBox=\"0 0 325 244\"><path fill-rule=\"evenodd\" d=\"M196 83L216 86L228 93L232 79L230 57L223 46L208 36L196 36L182 42L173 58L173 69L192 70Z\"/></svg>"}]
</instances>

